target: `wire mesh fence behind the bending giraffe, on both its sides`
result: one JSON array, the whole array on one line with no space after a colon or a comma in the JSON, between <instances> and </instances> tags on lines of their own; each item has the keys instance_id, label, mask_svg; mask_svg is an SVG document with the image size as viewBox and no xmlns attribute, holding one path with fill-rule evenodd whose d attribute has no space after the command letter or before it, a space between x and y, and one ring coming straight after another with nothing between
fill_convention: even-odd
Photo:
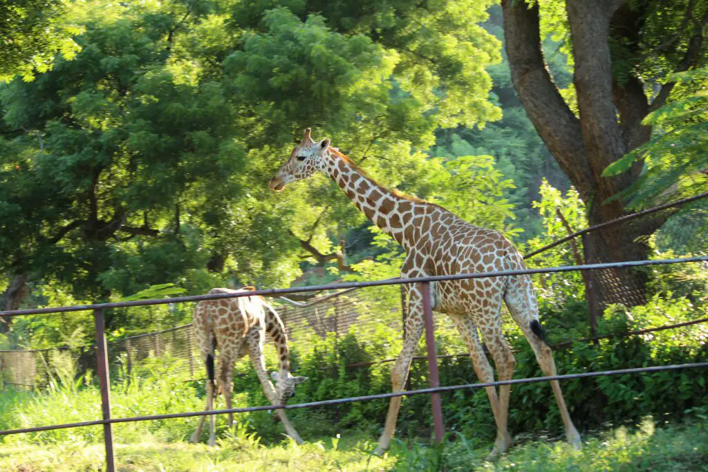
<instances>
[{"instance_id":1,"label":"wire mesh fence behind the bending giraffe, on both its sides","mask_svg":"<svg viewBox=\"0 0 708 472\"><path fill-rule=\"evenodd\" d=\"M402 333L399 293L399 288L394 286L359 289L331 298L324 294L304 306L276 301L274 307L285 324L290 343L312 343L314 338L328 335L344 338L353 330L360 342L367 343L377 338L377 332L382 329ZM266 350L272 349L269 335L266 341ZM72 355L79 375L96 372L95 345L3 350L0 351L0 386L45 388L50 382L52 352ZM159 357L169 359L173 372L185 380L204 377L204 365L191 323L108 343L113 379L130 377L145 360Z\"/></svg>"}]
</instances>

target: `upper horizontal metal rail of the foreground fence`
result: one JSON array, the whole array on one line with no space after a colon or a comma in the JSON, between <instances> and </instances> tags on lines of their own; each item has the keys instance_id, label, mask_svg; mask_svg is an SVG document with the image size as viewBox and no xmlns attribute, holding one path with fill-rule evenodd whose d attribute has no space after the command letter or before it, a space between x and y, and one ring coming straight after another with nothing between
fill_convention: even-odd
<instances>
[{"instance_id":1,"label":"upper horizontal metal rail of the foreground fence","mask_svg":"<svg viewBox=\"0 0 708 472\"><path fill-rule=\"evenodd\" d=\"M622 263L603 263L603 264L585 264L585 265L564 265L560 267L544 267L538 269L523 269L523 270L498 270L494 272L472 272L467 274L457 275L433 275L428 277L414 277L411 279L386 279L372 280L370 282L343 282L339 284L324 284L310 285L309 287L292 287L285 289L263 289L252 290L251 292L236 292L227 294L206 294L206 295L191 295L188 297L174 297L152 300L134 300L134 301L116 301L113 303L101 303L92 305L74 305L74 306L59 306L57 308L37 308L28 310L15 311L0 311L0 316L20 316L20 315L38 315L44 313L67 313L68 311L89 311L100 309L123 308L125 306L149 306L162 305L169 303L183 303L185 301L202 301L202 300L218 300L238 297L251 297L254 295L280 295L292 294L298 292L320 292L322 290L331 289L348 289L348 288L364 288L364 287L381 287L384 285L396 284L415 284L422 282L445 282L446 280L462 280L462 279L481 279L486 277L507 277L510 275L530 275L530 274L547 274L552 272L573 272L576 270L600 270L613 269L619 267L641 267L645 265L665 265L665 264L680 264L680 263L695 263L708 261L708 255L700 255L692 258L675 258L675 259L658 259L658 260L629 260Z\"/></svg>"}]
</instances>

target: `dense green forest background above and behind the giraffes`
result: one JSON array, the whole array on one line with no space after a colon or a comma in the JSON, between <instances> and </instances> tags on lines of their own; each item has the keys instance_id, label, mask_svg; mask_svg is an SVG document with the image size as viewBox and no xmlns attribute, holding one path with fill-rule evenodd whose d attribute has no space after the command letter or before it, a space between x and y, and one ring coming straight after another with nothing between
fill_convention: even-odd
<instances>
[{"instance_id":1,"label":"dense green forest background above and behind the giraffes","mask_svg":"<svg viewBox=\"0 0 708 472\"><path fill-rule=\"evenodd\" d=\"M583 42L561 1L5 2L14 47L0 70L4 304L115 301L158 284L173 284L162 294L200 294L395 275L399 248L324 177L268 190L307 126L384 185L522 249L550 236L543 217L554 218L553 205L579 229L692 195L708 159L704 3L616 9L603 73L619 121L612 111L617 129L604 129L592 107L579 111L602 91L576 90L585 82L573 81L572 50ZM507 40L521 40L511 63L505 21ZM534 40L544 57L523 47ZM519 79L522 66L530 79ZM642 122L640 112L651 114ZM624 152L608 160L585 134L576 136L583 149L564 149L588 123L595 134L619 130ZM702 213L674 220L663 226L665 248L704 249ZM648 257L647 238L666 221L590 242L609 260ZM107 328L120 337L188 318L115 312ZM57 345L76 326L22 318L4 346Z\"/></svg>"}]
</instances>

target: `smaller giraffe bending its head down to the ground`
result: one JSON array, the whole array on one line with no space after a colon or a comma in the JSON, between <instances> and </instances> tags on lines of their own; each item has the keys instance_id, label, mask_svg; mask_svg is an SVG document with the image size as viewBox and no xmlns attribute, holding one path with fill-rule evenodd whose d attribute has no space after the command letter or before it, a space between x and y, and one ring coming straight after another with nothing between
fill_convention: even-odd
<instances>
[{"instance_id":1,"label":"smaller giraffe bending its head down to the ground","mask_svg":"<svg viewBox=\"0 0 708 472\"><path fill-rule=\"evenodd\" d=\"M243 287L238 290L211 289L209 294L238 293L255 290L254 287ZM287 334L280 316L262 297L239 297L233 299L202 300L195 306L193 313L193 330L199 350L207 367L207 407L213 409L213 402L221 391L224 393L226 408L231 406L231 393L234 387L234 362L246 355L251 356L253 368L256 369L258 380L261 381L265 396L273 405L285 405L287 399L295 394L295 386L302 384L307 377L294 377L290 374L290 353L287 349ZM265 369L263 345L265 333L270 334L278 351L280 362L279 372L270 374L275 381L275 388L268 379ZM215 348L219 348L215 368ZM285 416L285 410L276 410L287 435L302 444L299 434ZM199 442L206 417L199 420L197 430L190 438L191 442ZM215 415L211 415L209 442L215 444ZM229 426L234 424L234 415L229 413Z\"/></svg>"}]
</instances>

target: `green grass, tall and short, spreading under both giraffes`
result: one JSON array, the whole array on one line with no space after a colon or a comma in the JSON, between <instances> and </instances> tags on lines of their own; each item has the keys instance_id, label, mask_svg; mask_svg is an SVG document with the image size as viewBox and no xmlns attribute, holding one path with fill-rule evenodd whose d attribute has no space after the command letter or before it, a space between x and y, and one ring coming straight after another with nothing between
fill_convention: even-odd
<instances>
[{"instance_id":1,"label":"green grass, tall and short, spreading under both giraffes","mask_svg":"<svg viewBox=\"0 0 708 472\"><path fill-rule=\"evenodd\" d=\"M95 381L90 374L75 380L71 359L62 359L53 359L53 365L59 372L61 363L67 363L64 369L67 374L63 379L57 375L47 391L1 392L0 430L100 417L100 395ZM116 418L203 408L198 387L181 381L174 365L164 359L145 362L137 374L114 382L111 388ZM255 389L234 395L234 407L264 403ZM453 406L450 403L447 408ZM219 416L217 447L185 442L196 427L196 418L114 425L118 470L708 472L705 407L684 412L683 418L690 420L683 424L657 422L645 415L639 425L588 434L583 437L581 451L555 439L520 436L519 444L509 454L493 462L486 461L491 450L491 426L476 421L476 416L469 412L449 426L468 425L470 429L465 430L465 435L449 432L440 447L404 439L429 434L426 427L429 418L423 415L418 426L411 422L405 430L401 427L399 439L394 440L383 457L373 456L372 451L384 418L379 420L377 414L369 412L367 417L341 426L342 423L336 423L325 413L324 409L289 412L297 430L308 441L300 446L287 439L282 425L265 411L239 415L239 427L234 431L228 431L224 416ZM661 415L661 418L677 417ZM536 432L513 432L538 434L542 427L539 423ZM338 436L336 433L341 438L331 437ZM202 439L205 437L206 434ZM0 437L1 472L99 471L103 470L103 461L103 434L99 426Z\"/></svg>"}]
</instances>

